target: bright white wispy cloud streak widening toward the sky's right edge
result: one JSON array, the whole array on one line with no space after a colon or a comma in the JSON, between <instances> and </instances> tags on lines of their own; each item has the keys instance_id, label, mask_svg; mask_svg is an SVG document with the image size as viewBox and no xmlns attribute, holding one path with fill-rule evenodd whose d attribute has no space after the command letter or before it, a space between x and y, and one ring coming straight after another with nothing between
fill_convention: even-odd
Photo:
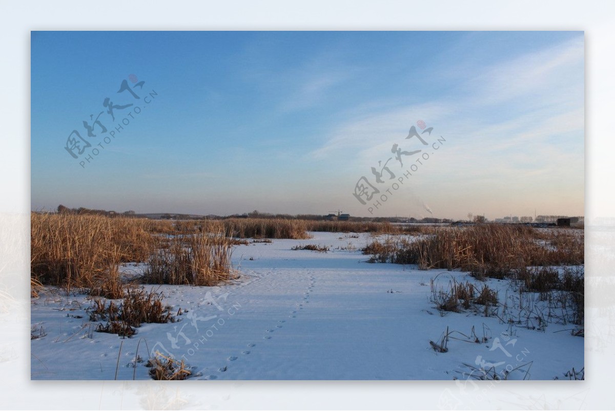
<instances>
[{"instance_id":1,"label":"bright white wispy cloud streak widening toward the sky's right edge","mask_svg":"<svg viewBox=\"0 0 615 411\"><path fill-rule=\"evenodd\" d=\"M311 156L326 158L352 151L362 157L386 146L389 150L419 118L431 126L445 126L466 142L483 148L488 145L492 154L522 150L529 143L582 131L582 82L579 84L577 67L582 60L582 41L569 41L472 70L461 84L466 90L461 95L440 94L435 96L437 100L423 104L358 114L331 130Z\"/></svg>"}]
</instances>

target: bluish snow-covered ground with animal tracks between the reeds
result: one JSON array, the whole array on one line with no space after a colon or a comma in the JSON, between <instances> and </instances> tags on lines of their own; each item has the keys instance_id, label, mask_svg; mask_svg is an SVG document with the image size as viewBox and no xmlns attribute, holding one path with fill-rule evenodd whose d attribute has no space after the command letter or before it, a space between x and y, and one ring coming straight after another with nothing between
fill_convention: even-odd
<instances>
[{"instance_id":1,"label":"bluish snow-covered ground with animal tracks between the reeds","mask_svg":"<svg viewBox=\"0 0 615 411\"><path fill-rule=\"evenodd\" d=\"M532 330L473 309L441 316L430 279L443 288L453 278L480 283L467 273L370 264L360 252L370 235L311 234L236 246L241 276L233 284L145 285L164 293L173 313L187 312L178 322L143 324L132 338L93 332L87 295L47 290L31 301L40 336L31 340L31 378L146 380L149 368L135 367L135 357L156 351L184 359L191 379L210 380L466 380L480 367L509 380L568 380L566 372L584 367L584 338L571 335L571 324ZM330 251L291 249L305 244ZM519 298L509 281L486 284L510 306ZM447 328L448 352L437 353L429 341L440 342Z\"/></svg>"}]
</instances>

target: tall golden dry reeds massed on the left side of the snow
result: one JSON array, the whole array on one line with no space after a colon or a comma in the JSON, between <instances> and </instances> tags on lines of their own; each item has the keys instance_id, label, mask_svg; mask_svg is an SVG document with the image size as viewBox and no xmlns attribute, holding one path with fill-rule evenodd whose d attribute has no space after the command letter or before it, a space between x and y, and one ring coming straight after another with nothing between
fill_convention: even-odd
<instances>
[{"instance_id":1,"label":"tall golden dry reeds massed on the left side of the snow","mask_svg":"<svg viewBox=\"0 0 615 411\"><path fill-rule=\"evenodd\" d=\"M148 261L154 284L212 285L231 276L237 242L225 231L220 221L32 213L31 278L35 285L122 298L119 265Z\"/></svg>"}]
</instances>

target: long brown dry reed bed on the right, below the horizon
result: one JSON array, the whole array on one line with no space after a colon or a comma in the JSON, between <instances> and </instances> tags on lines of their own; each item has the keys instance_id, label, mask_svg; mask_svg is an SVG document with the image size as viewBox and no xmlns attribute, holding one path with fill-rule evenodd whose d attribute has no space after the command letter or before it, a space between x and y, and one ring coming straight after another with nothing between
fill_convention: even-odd
<instances>
[{"instance_id":1,"label":"long brown dry reed bed on the right, below the horizon","mask_svg":"<svg viewBox=\"0 0 615 411\"><path fill-rule=\"evenodd\" d=\"M481 224L440 228L415 241L375 240L363 253L371 254L373 261L416 264L421 269L459 268L477 277L501 278L526 266L580 265L584 242L578 230Z\"/></svg>"}]
</instances>

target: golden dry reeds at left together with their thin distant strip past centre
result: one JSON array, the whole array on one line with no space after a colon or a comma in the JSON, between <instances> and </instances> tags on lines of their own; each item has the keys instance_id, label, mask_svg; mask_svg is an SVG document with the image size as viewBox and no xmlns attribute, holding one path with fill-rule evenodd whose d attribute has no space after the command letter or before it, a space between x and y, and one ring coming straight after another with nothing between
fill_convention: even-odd
<instances>
[{"instance_id":1,"label":"golden dry reeds at left together with their thin distant strip past centre","mask_svg":"<svg viewBox=\"0 0 615 411\"><path fill-rule=\"evenodd\" d=\"M213 285L232 277L232 245L252 239L308 239L308 231L426 233L423 226L283 218L149 220L93 214L31 213L31 293L39 284L66 293L121 298L119 265L147 261L153 284Z\"/></svg>"}]
</instances>

